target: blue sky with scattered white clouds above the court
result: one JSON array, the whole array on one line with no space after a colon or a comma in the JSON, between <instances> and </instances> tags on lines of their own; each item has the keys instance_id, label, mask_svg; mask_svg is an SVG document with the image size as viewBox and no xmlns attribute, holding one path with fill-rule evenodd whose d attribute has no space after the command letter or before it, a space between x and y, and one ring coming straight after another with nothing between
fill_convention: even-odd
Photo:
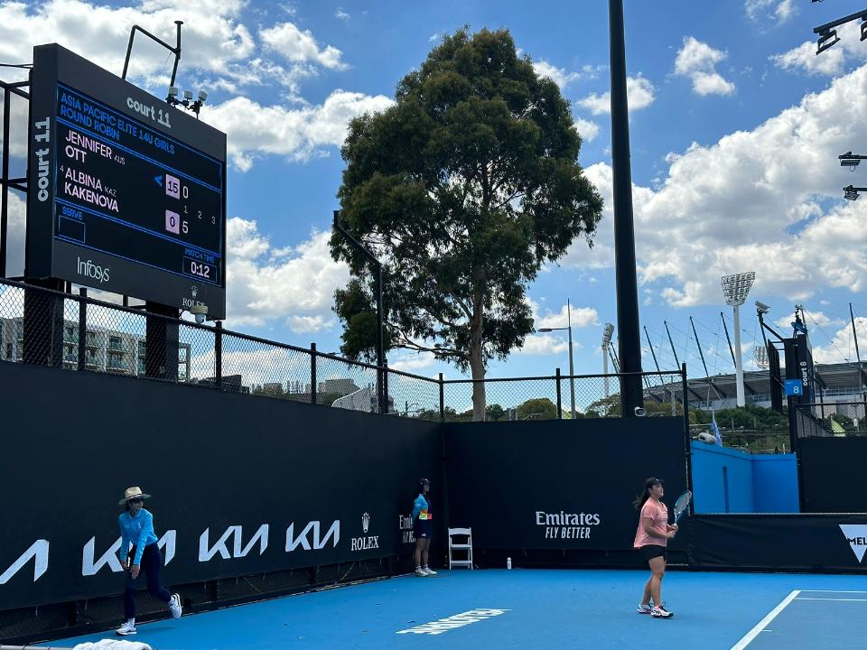
<instances>
[{"instance_id":1,"label":"blue sky with scattered white clouds above the court","mask_svg":"<svg viewBox=\"0 0 867 650\"><path fill-rule=\"evenodd\" d=\"M841 30L842 42L816 56L813 28L862 4L625 5L640 316L660 365L675 366L668 321L680 360L690 375L704 376L693 316L709 372L732 371L720 277L750 270L757 279L741 319L745 367L755 367L760 340L755 299L771 305L772 320L787 331L795 303L803 303L816 357L854 359L849 302L867 344L867 199L846 202L841 188L867 185L867 170L842 169L836 156L867 151L867 43L853 23ZM133 23L172 41L179 19L186 22L180 85L206 88L202 119L228 133L229 328L339 348L331 297L347 272L325 242L346 122L387 107L397 81L443 33L464 24L502 27L572 103L584 138L580 161L606 202L592 251L576 241L529 290L537 327L564 325L572 301L576 370L601 370L602 326L616 323L606 2L0 2L0 61L29 61L34 44L60 42L119 73ZM133 80L163 96L164 63L164 52L136 42ZM16 125L24 119L13 115ZM15 274L23 204L11 208ZM565 370L558 334L532 336L506 362L493 362L489 376ZM390 359L425 376L458 375L415 353Z\"/></svg>"}]
</instances>

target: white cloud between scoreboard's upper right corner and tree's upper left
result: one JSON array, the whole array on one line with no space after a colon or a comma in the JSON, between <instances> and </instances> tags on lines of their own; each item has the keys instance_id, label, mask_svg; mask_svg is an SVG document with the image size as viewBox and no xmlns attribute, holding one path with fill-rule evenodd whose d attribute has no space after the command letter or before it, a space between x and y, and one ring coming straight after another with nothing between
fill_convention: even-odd
<instances>
[{"instance_id":1,"label":"white cloud between scoreboard's upper right corner and tree's upper left","mask_svg":"<svg viewBox=\"0 0 867 650\"><path fill-rule=\"evenodd\" d=\"M325 153L325 147L340 146L350 119L385 110L392 103L382 95L370 97L335 90L320 106L260 106L238 97L218 106L205 106L201 115L228 133L229 157L238 170L246 172L263 154L306 160Z\"/></svg>"}]
</instances>

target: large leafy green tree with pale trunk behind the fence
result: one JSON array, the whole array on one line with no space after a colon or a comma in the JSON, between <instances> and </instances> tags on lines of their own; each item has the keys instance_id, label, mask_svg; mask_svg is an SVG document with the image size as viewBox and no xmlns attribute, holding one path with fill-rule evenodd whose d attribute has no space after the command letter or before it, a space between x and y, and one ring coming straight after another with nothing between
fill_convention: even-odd
<instances>
[{"instance_id":1,"label":"large leafy green tree with pale trunk behind the fence","mask_svg":"<svg viewBox=\"0 0 867 650\"><path fill-rule=\"evenodd\" d=\"M388 348L433 352L480 379L523 344L528 283L575 237L590 243L601 218L580 147L560 89L506 30L446 36L393 107L352 120L340 221L384 263ZM357 278L367 271L340 235L331 255ZM370 282L335 294L351 357L374 348ZM482 419L483 385L473 407Z\"/></svg>"}]
</instances>

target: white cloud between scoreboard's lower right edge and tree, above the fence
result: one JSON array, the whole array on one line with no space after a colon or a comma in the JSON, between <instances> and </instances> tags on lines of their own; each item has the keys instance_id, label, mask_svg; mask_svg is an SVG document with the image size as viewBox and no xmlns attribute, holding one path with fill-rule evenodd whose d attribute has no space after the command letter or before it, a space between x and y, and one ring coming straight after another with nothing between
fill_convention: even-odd
<instances>
[{"instance_id":1,"label":"white cloud between scoreboard's lower right edge and tree, above the fence","mask_svg":"<svg viewBox=\"0 0 867 650\"><path fill-rule=\"evenodd\" d=\"M330 234L313 232L289 251L275 249L256 221L230 218L227 226L227 312L231 326L284 319L299 333L329 327L334 290L349 269L331 259Z\"/></svg>"}]
</instances>

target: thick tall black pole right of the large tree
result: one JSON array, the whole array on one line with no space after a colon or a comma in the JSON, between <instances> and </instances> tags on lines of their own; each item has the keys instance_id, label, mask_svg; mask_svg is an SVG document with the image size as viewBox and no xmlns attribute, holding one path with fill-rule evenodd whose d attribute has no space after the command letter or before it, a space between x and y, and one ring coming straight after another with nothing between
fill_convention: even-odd
<instances>
[{"instance_id":1,"label":"thick tall black pole right of the large tree","mask_svg":"<svg viewBox=\"0 0 867 650\"><path fill-rule=\"evenodd\" d=\"M641 372L639 287L635 269L632 171L629 154L629 103L626 97L626 38L623 0L609 0L611 21L611 163L614 172L614 266L620 372ZM620 409L633 417L644 406L641 376L620 377Z\"/></svg>"}]
</instances>

